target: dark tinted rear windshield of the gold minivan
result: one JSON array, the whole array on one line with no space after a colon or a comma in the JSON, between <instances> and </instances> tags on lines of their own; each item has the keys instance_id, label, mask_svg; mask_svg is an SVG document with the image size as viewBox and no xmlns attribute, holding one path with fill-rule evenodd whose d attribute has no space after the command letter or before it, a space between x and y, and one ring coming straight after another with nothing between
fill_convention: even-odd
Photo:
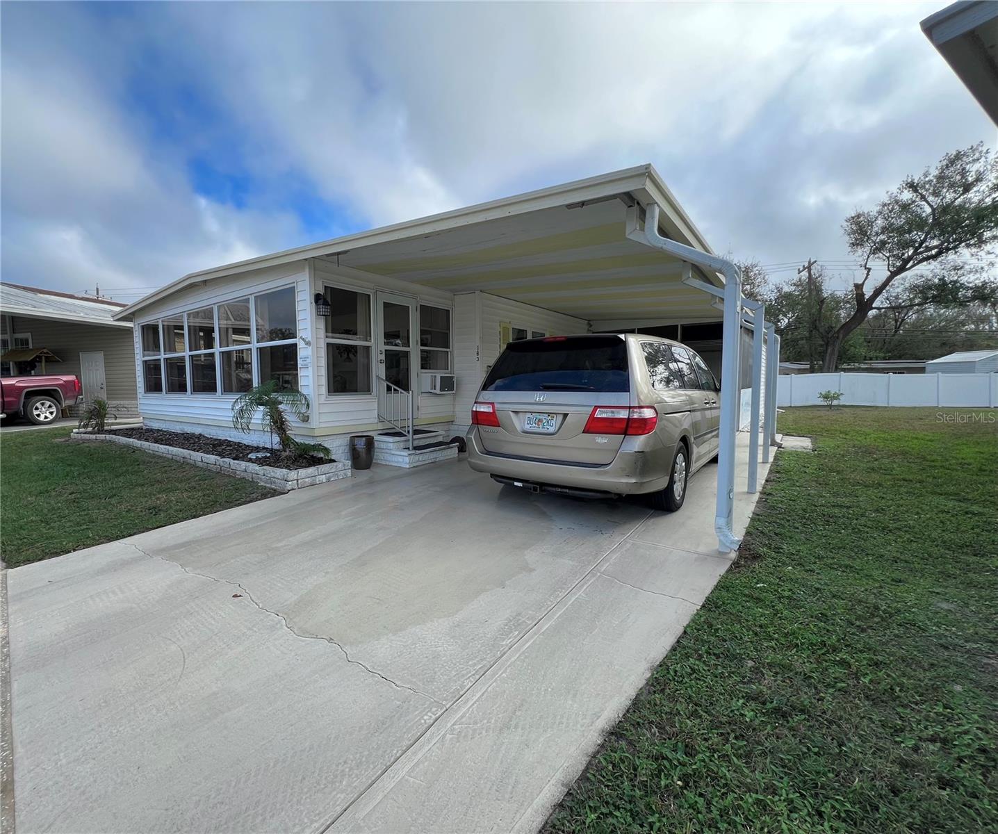
<instances>
[{"instance_id":1,"label":"dark tinted rear windshield of the gold minivan","mask_svg":"<svg viewBox=\"0 0 998 834\"><path fill-rule=\"evenodd\" d=\"M627 343L620 336L510 342L483 391L629 391Z\"/></svg>"}]
</instances>

